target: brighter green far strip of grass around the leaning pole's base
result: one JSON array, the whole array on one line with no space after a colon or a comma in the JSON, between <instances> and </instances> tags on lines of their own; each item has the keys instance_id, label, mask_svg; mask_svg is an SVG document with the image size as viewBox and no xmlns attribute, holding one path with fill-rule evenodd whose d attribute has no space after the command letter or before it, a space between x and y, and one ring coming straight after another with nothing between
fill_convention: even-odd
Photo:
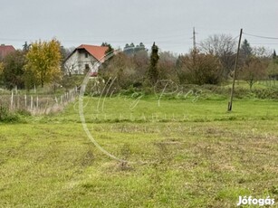
<instances>
[{"instance_id":1,"label":"brighter green far strip of grass around the leaning pole's base","mask_svg":"<svg viewBox=\"0 0 278 208\"><path fill-rule=\"evenodd\" d=\"M158 99L128 96L86 98L83 100L87 123L114 122L189 122L229 120L273 120L278 118L278 101L269 99L235 99L233 112L227 112L228 99L202 98ZM78 101L61 116L43 117L43 122L80 122Z\"/></svg>"}]
</instances>

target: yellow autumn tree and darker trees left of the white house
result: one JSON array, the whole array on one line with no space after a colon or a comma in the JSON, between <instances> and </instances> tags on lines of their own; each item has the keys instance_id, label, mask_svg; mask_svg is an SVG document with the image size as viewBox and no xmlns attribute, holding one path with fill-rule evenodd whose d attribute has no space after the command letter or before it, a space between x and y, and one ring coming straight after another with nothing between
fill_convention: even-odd
<instances>
[{"instance_id":1,"label":"yellow autumn tree and darker trees left of the white house","mask_svg":"<svg viewBox=\"0 0 278 208\"><path fill-rule=\"evenodd\" d=\"M25 43L23 50L10 53L1 62L0 81L8 89L44 86L61 79L61 62L62 47L56 39Z\"/></svg>"}]
</instances>

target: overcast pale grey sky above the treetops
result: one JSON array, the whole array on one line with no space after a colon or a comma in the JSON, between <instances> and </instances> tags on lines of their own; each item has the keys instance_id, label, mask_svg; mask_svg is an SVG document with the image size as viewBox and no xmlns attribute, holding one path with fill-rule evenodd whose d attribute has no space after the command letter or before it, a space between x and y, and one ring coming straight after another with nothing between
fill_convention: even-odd
<instances>
[{"instance_id":1,"label":"overcast pale grey sky above the treetops","mask_svg":"<svg viewBox=\"0 0 278 208\"><path fill-rule=\"evenodd\" d=\"M156 42L163 51L188 52L214 33L278 37L278 0L0 0L0 43L56 37L65 47L81 43ZM278 40L244 35L252 45L278 49Z\"/></svg>"}]
</instances>

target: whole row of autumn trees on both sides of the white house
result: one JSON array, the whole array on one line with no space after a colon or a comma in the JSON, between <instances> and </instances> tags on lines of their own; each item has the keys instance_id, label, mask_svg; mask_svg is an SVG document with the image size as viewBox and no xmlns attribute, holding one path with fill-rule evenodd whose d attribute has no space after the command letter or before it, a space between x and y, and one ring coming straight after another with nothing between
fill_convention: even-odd
<instances>
[{"instance_id":1,"label":"whole row of autumn trees on both sides of the white house","mask_svg":"<svg viewBox=\"0 0 278 208\"><path fill-rule=\"evenodd\" d=\"M109 43L110 53L113 48ZM171 52L161 52L153 43L151 52L143 43L134 46L126 44L122 52L117 52L108 62L102 64L99 74L104 80L116 78L118 89L130 86L154 86L158 80L173 80L179 84L219 84L231 77L235 67L236 40L230 35L209 36L188 54L179 56ZM59 41L24 44L0 62L0 85L7 88L31 89L34 85L61 83L62 60L68 51ZM264 47L252 47L244 40L240 49L239 73L237 79L246 80L250 89L256 80L278 79L276 53L267 52ZM2 81L2 83L1 83Z\"/></svg>"}]
</instances>

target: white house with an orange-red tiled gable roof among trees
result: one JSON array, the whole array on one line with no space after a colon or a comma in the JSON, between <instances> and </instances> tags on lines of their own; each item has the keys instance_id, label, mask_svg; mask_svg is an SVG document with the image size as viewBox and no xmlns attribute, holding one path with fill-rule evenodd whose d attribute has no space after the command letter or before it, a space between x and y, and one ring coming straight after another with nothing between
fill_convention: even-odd
<instances>
[{"instance_id":1,"label":"white house with an orange-red tiled gable roof among trees","mask_svg":"<svg viewBox=\"0 0 278 208\"><path fill-rule=\"evenodd\" d=\"M105 61L106 46L81 44L64 61L67 74L86 74L91 71L91 76L98 74L98 68L93 67L97 62Z\"/></svg>"}]
</instances>

